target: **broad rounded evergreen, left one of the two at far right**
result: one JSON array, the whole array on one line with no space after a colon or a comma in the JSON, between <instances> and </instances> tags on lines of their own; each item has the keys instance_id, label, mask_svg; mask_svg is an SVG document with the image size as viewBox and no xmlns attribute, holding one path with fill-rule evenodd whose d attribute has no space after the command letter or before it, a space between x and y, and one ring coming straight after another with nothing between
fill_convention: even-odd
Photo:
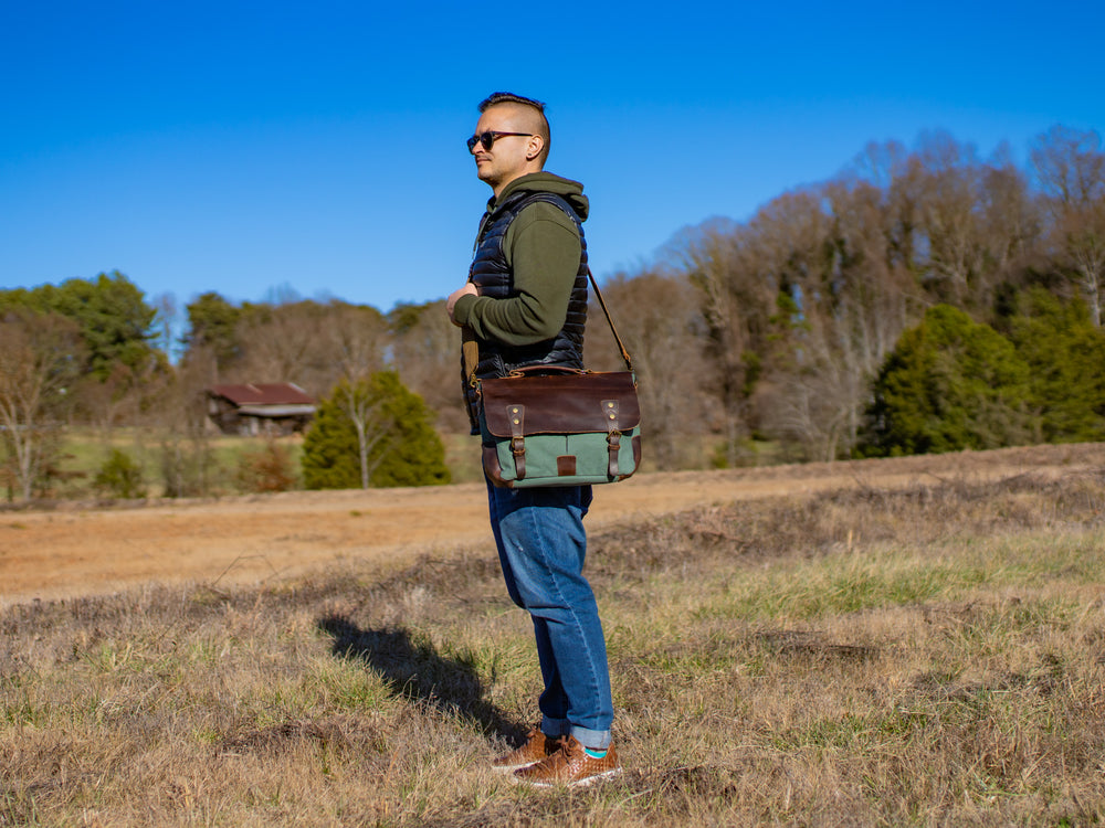
<instances>
[{"instance_id":1,"label":"broad rounded evergreen, left one of the two at far right","mask_svg":"<svg viewBox=\"0 0 1105 828\"><path fill-rule=\"evenodd\" d=\"M863 455L998 448L1033 436L1029 367L1009 340L948 305L902 335L873 392Z\"/></svg>"}]
</instances>

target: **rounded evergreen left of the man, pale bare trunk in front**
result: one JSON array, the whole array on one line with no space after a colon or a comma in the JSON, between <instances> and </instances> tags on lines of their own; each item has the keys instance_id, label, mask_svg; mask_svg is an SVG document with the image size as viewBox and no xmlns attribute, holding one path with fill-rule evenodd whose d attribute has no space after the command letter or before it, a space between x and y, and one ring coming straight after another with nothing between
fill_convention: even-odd
<instances>
[{"instance_id":1,"label":"rounded evergreen left of the man, pale bare trunk in front","mask_svg":"<svg viewBox=\"0 0 1105 828\"><path fill-rule=\"evenodd\" d=\"M343 380L303 440L308 489L432 486L450 480L433 413L393 371Z\"/></svg>"}]
</instances>

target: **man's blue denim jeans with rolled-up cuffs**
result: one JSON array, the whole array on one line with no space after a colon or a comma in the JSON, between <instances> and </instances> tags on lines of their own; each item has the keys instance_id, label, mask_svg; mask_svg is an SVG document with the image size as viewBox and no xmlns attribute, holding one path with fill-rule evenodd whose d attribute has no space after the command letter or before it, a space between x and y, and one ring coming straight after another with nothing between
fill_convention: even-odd
<instances>
[{"instance_id":1,"label":"man's blue denim jeans with rolled-up cuffs","mask_svg":"<svg viewBox=\"0 0 1105 828\"><path fill-rule=\"evenodd\" d=\"M604 749L613 721L607 644L582 574L591 487L501 489L488 481L487 500L506 590L534 622L541 730Z\"/></svg>"}]
</instances>

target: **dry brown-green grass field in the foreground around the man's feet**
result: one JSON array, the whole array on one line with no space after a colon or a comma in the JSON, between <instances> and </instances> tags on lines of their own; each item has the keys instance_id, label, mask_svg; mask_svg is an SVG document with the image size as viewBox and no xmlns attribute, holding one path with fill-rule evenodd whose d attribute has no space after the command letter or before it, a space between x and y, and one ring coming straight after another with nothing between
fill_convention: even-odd
<instances>
[{"instance_id":1,"label":"dry brown-green grass field in the foreground around the man's feet","mask_svg":"<svg viewBox=\"0 0 1105 828\"><path fill-rule=\"evenodd\" d=\"M0 615L0 825L1105 821L1105 469L929 478L607 529L622 776L536 793L484 549Z\"/></svg>"}]
</instances>

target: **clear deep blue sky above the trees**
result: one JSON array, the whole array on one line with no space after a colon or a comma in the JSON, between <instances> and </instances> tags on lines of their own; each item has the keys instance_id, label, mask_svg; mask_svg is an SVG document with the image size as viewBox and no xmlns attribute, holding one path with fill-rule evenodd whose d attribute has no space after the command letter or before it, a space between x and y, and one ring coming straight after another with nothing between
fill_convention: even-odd
<instances>
[{"instance_id":1,"label":"clear deep blue sky above the trees","mask_svg":"<svg viewBox=\"0 0 1105 828\"><path fill-rule=\"evenodd\" d=\"M1103 9L0 0L0 287L118 269L181 306L442 298L497 89L548 102L601 279L871 140L946 129L1023 161L1054 124L1102 131Z\"/></svg>"}]
</instances>

